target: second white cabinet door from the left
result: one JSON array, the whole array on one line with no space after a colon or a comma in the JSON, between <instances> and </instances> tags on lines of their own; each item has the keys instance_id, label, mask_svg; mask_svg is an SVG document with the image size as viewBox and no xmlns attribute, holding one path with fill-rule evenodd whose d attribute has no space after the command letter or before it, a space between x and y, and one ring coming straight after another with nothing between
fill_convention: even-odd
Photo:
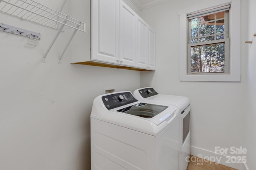
<instances>
[{"instance_id":1,"label":"second white cabinet door from the left","mask_svg":"<svg viewBox=\"0 0 256 170\"><path fill-rule=\"evenodd\" d=\"M121 0L119 59L122 65L136 65L136 16L137 14Z\"/></svg>"}]
</instances>

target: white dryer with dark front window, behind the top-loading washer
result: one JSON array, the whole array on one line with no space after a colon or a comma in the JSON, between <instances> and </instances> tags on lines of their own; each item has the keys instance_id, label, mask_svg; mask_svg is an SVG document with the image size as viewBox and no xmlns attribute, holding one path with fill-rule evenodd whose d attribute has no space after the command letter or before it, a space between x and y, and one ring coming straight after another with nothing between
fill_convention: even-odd
<instances>
[{"instance_id":1,"label":"white dryer with dark front window, behind the top-loading washer","mask_svg":"<svg viewBox=\"0 0 256 170\"><path fill-rule=\"evenodd\" d=\"M168 104L179 109L181 132L179 170L186 170L190 156L190 100L183 96L158 94L152 87L137 89L133 94L142 102L152 101L156 104Z\"/></svg>"}]
</instances>

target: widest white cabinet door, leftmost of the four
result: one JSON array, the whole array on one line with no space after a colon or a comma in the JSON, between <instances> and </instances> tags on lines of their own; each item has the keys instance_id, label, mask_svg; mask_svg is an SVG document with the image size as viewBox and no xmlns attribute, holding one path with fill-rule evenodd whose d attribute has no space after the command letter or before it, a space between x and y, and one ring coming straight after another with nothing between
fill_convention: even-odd
<instances>
[{"instance_id":1,"label":"widest white cabinet door, leftmost of the four","mask_svg":"<svg viewBox=\"0 0 256 170\"><path fill-rule=\"evenodd\" d=\"M92 60L118 62L119 0L92 0Z\"/></svg>"}]
</instances>

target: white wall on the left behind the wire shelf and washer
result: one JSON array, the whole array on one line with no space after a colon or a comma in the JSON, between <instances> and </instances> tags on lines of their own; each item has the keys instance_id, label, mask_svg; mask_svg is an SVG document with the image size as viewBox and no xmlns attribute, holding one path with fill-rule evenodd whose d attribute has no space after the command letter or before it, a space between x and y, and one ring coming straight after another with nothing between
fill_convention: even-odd
<instances>
[{"instance_id":1,"label":"white wall on the left behind the wire shelf and washer","mask_svg":"<svg viewBox=\"0 0 256 170\"><path fill-rule=\"evenodd\" d=\"M63 0L38 0L60 10ZM68 14L69 3L63 11ZM134 91L140 72L70 64L69 38L61 33L42 63L56 30L0 13L0 22L41 33L28 38L0 31L0 169L90 169L90 111L105 87Z\"/></svg>"}]
</instances>

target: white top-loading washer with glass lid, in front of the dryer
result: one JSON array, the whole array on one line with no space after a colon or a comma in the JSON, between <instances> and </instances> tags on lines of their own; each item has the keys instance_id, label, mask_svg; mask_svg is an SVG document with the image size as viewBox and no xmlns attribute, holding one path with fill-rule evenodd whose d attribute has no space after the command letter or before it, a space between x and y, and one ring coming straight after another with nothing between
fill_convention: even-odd
<instances>
[{"instance_id":1,"label":"white top-loading washer with glass lid, in front of the dryer","mask_svg":"<svg viewBox=\"0 0 256 170\"><path fill-rule=\"evenodd\" d=\"M142 103L131 92L96 97L91 113L91 170L178 170L176 107Z\"/></svg>"}]
</instances>

